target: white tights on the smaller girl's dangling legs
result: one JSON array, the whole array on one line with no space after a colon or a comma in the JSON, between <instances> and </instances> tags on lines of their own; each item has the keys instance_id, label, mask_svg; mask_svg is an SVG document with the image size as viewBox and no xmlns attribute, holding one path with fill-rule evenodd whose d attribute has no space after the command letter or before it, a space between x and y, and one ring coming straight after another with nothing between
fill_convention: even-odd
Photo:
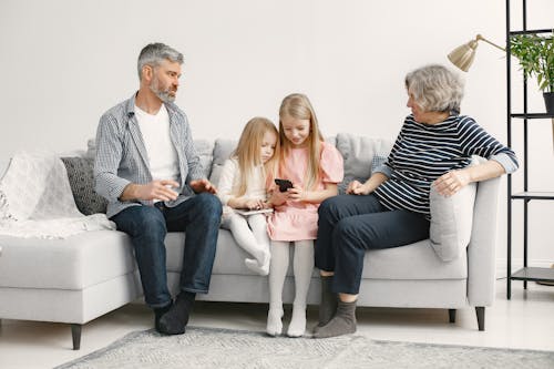
<instances>
[{"instance_id":1,"label":"white tights on the smaller girl's dangling legs","mask_svg":"<svg viewBox=\"0 0 554 369\"><path fill-rule=\"evenodd\" d=\"M245 259L246 266L263 276L267 276L270 254L266 216L254 214L245 217L239 214L230 214L224 219L223 227L229 229L238 246L254 257L254 259Z\"/></svg>"}]
</instances>

